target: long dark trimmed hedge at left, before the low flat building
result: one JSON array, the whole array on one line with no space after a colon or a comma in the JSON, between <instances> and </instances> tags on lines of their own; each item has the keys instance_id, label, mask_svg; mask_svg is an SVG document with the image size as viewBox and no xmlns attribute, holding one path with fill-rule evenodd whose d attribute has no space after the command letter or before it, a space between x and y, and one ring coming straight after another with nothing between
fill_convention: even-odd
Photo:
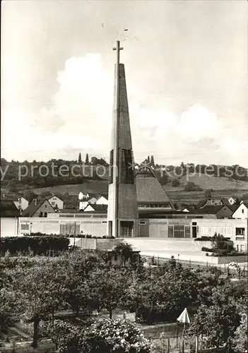
<instances>
[{"instance_id":1,"label":"long dark trimmed hedge at left, before the low flat building","mask_svg":"<svg viewBox=\"0 0 248 353\"><path fill-rule=\"evenodd\" d=\"M50 251L54 255L61 251L69 250L69 238L66 237L4 237L0 239L0 254L18 255L18 253L29 253L33 255L47 255Z\"/></svg>"}]
</instances>

